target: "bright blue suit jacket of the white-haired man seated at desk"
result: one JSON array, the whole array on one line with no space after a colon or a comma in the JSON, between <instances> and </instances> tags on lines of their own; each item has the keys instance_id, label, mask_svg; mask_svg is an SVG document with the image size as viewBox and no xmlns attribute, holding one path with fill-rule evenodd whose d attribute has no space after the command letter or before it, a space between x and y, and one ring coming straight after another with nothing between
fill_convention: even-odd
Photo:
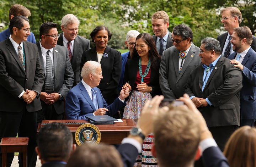
<instances>
[{"instance_id":1,"label":"bright blue suit jacket of the white-haired man seated at desk","mask_svg":"<svg viewBox=\"0 0 256 167\"><path fill-rule=\"evenodd\" d=\"M100 89L97 87L93 88L97 97L98 107L107 108L107 115L113 116L121 107L126 106L126 102L122 102L119 98L116 98L111 105L107 105L103 98ZM73 87L66 97L66 117L67 119L85 119L85 116L92 116L96 108L85 89L82 82Z\"/></svg>"}]
</instances>

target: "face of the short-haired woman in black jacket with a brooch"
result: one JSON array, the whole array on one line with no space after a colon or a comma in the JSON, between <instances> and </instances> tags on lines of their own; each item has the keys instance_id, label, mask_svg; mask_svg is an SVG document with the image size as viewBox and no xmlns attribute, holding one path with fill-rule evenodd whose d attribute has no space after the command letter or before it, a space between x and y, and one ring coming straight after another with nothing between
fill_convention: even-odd
<instances>
[{"instance_id":1,"label":"face of the short-haired woman in black jacket with a brooch","mask_svg":"<svg viewBox=\"0 0 256 167\"><path fill-rule=\"evenodd\" d=\"M94 37L96 48L106 48L108 43L108 32L105 29L99 30Z\"/></svg>"}]
</instances>

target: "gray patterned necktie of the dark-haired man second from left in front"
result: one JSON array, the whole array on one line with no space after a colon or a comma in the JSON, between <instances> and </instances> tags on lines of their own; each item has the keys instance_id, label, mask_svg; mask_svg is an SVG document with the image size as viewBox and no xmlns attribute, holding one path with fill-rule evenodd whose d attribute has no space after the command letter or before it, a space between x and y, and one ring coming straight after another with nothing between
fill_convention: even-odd
<instances>
[{"instance_id":1,"label":"gray patterned necktie of the dark-haired man second from left in front","mask_svg":"<svg viewBox=\"0 0 256 167\"><path fill-rule=\"evenodd\" d=\"M52 59L49 55L49 50L46 52L46 84L45 84L45 92L50 94L54 89L54 78L53 78L53 66Z\"/></svg>"}]
</instances>

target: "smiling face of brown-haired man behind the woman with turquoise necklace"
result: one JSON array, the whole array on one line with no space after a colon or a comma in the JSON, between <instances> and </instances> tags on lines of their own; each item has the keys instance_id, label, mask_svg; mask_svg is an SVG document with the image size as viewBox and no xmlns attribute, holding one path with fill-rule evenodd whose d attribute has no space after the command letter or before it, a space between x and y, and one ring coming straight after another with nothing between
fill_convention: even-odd
<instances>
[{"instance_id":1,"label":"smiling face of brown-haired man behind the woman with turquoise necklace","mask_svg":"<svg viewBox=\"0 0 256 167\"><path fill-rule=\"evenodd\" d=\"M152 29L156 37L163 38L167 32L169 27L169 22L164 23L164 19L151 19Z\"/></svg>"}]
</instances>

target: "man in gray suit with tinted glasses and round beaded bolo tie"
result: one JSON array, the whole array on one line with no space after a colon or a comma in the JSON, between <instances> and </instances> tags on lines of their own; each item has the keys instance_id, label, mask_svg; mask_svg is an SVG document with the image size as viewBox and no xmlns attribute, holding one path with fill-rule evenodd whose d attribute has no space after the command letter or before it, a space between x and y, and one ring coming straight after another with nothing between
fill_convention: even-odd
<instances>
[{"instance_id":1,"label":"man in gray suit with tinted glasses and round beaded bolo tie","mask_svg":"<svg viewBox=\"0 0 256 167\"><path fill-rule=\"evenodd\" d=\"M201 60L200 49L193 44L193 32L188 26L175 26L172 42L174 46L162 54L159 83L164 97L175 100L183 96L183 86Z\"/></svg>"}]
</instances>

